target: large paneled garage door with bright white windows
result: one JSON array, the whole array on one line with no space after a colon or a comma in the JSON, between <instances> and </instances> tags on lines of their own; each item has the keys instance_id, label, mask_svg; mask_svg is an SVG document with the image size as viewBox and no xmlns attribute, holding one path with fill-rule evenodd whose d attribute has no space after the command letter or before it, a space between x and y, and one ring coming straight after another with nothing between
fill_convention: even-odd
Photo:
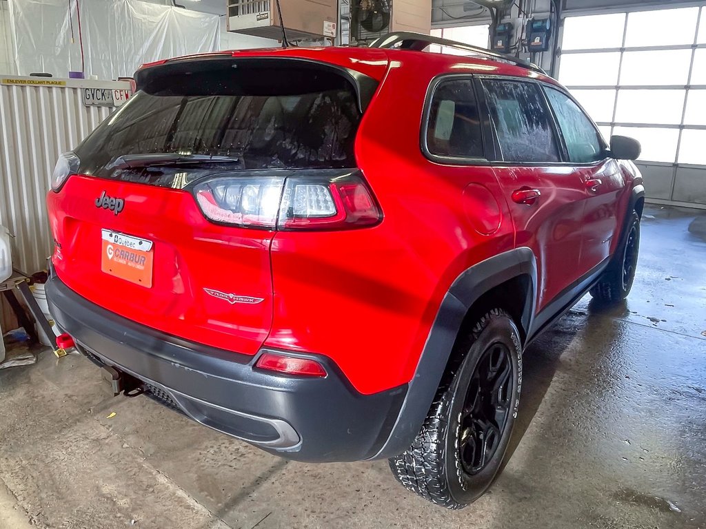
<instances>
[{"instance_id":1,"label":"large paneled garage door with bright white windows","mask_svg":"<svg viewBox=\"0 0 706 529\"><path fill-rule=\"evenodd\" d=\"M559 80L642 143L652 201L706 207L706 7L568 16L561 43Z\"/></svg>"}]
</instances>

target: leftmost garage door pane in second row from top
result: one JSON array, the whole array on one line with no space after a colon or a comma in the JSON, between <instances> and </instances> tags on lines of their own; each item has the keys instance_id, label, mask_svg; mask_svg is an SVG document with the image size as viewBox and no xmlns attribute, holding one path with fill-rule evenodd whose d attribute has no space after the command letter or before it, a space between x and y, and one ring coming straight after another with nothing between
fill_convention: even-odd
<instances>
[{"instance_id":1,"label":"leftmost garage door pane in second row from top","mask_svg":"<svg viewBox=\"0 0 706 529\"><path fill-rule=\"evenodd\" d=\"M618 84L620 52L599 54L563 54L559 80L566 86Z\"/></svg>"}]
</instances>

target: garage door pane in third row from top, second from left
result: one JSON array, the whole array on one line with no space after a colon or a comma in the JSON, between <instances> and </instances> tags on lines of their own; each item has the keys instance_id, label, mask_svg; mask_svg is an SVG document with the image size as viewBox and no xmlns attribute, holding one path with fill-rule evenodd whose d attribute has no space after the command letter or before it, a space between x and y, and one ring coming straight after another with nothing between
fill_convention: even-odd
<instances>
[{"instance_id":1,"label":"garage door pane in third row from top, second from left","mask_svg":"<svg viewBox=\"0 0 706 529\"><path fill-rule=\"evenodd\" d=\"M685 90L620 90L616 121L678 125L685 95Z\"/></svg>"}]
</instances>

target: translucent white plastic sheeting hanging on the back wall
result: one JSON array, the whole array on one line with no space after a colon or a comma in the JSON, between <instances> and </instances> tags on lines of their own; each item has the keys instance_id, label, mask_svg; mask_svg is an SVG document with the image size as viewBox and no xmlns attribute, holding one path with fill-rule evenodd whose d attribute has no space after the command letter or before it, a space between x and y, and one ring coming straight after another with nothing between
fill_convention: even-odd
<instances>
[{"instance_id":1,"label":"translucent white plastic sheeting hanging on the back wall","mask_svg":"<svg viewBox=\"0 0 706 529\"><path fill-rule=\"evenodd\" d=\"M9 1L20 75L65 78L81 71L76 0ZM87 77L131 77L142 63L218 49L216 15L140 0L78 0L78 6Z\"/></svg>"}]
</instances>

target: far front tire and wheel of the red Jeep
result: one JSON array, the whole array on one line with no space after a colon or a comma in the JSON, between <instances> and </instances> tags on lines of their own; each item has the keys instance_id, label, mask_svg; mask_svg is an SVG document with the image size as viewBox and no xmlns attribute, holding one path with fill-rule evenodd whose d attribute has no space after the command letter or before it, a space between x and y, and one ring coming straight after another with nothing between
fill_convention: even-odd
<instances>
[{"instance_id":1,"label":"far front tire and wheel of the red Jeep","mask_svg":"<svg viewBox=\"0 0 706 529\"><path fill-rule=\"evenodd\" d=\"M615 305L628 297L635 281L640 253L640 216L633 212L626 227L626 238L616 256L598 283L591 288L591 296L605 305ZM629 267L626 270L626 267Z\"/></svg>"}]
</instances>

